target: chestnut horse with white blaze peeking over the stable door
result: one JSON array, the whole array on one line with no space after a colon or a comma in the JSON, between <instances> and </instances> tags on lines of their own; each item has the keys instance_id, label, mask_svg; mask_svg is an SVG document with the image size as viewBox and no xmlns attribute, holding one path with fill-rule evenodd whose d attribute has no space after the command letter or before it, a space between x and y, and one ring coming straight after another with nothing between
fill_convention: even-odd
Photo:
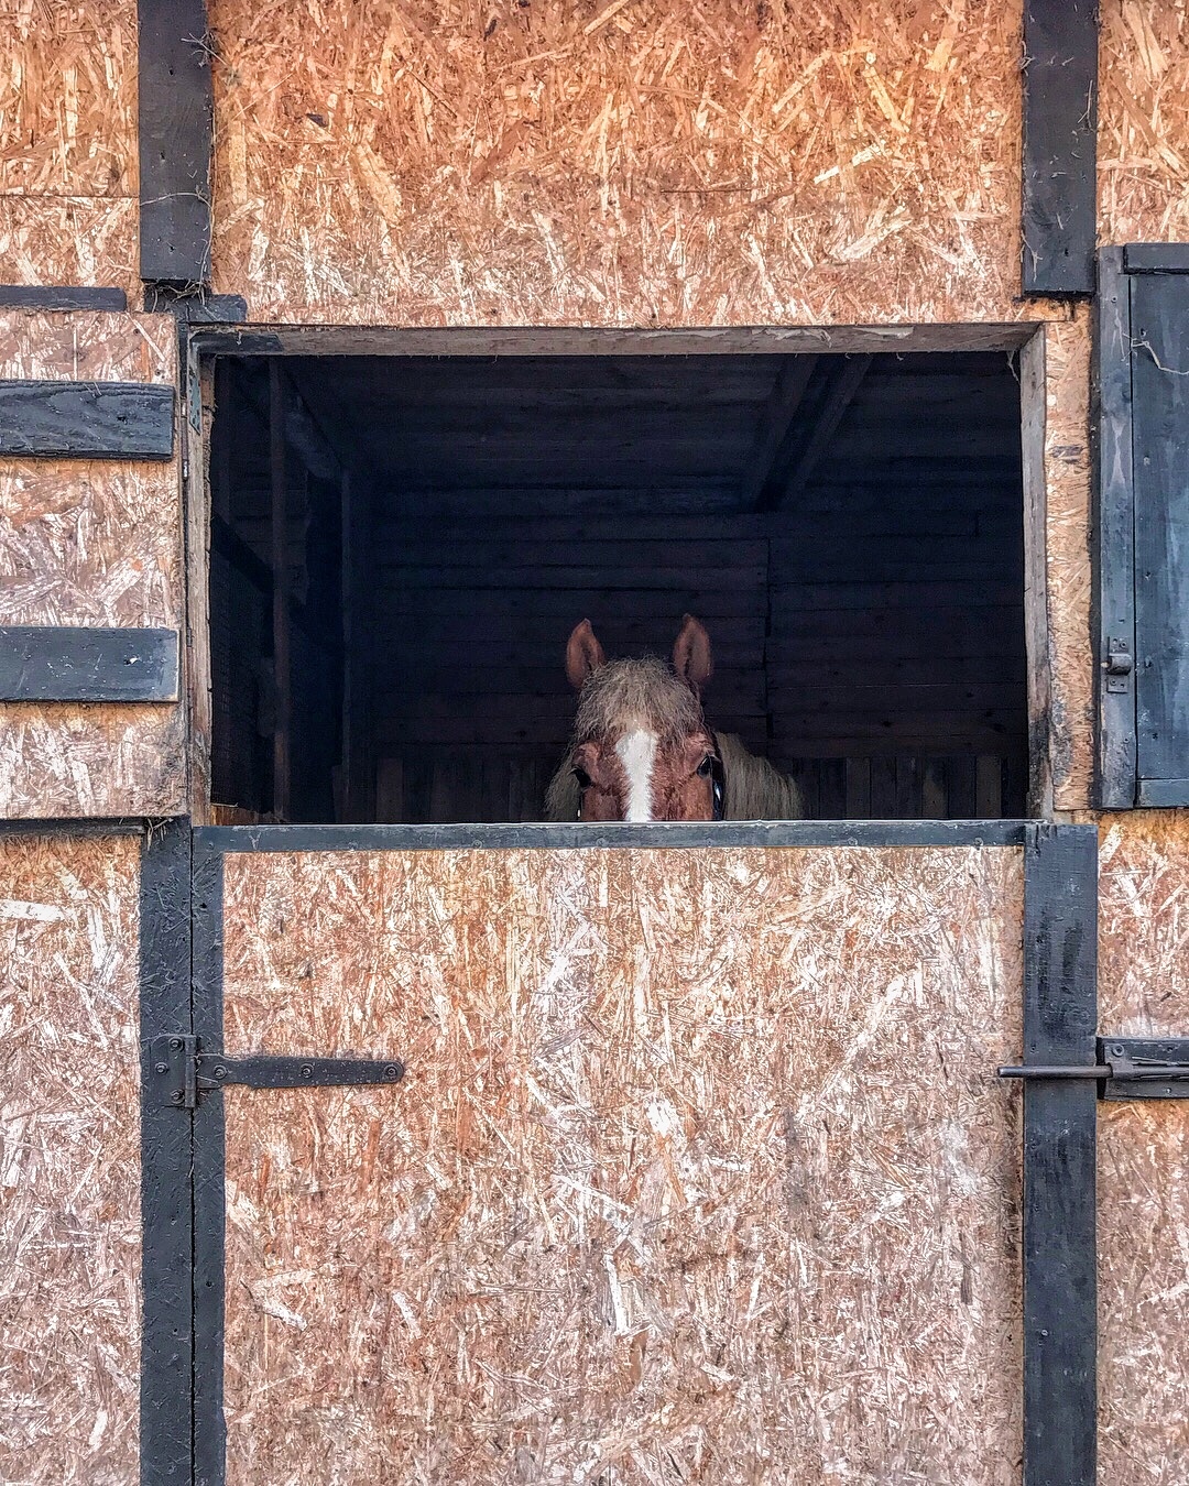
<instances>
[{"instance_id":1,"label":"chestnut horse with white blaze peeking over the stable door","mask_svg":"<svg viewBox=\"0 0 1189 1486\"><path fill-rule=\"evenodd\" d=\"M682 620L672 661L608 661L589 620L566 645L578 691L569 752L545 796L548 820L800 820L801 794L702 709L713 660L706 629Z\"/></svg>"}]
</instances>

